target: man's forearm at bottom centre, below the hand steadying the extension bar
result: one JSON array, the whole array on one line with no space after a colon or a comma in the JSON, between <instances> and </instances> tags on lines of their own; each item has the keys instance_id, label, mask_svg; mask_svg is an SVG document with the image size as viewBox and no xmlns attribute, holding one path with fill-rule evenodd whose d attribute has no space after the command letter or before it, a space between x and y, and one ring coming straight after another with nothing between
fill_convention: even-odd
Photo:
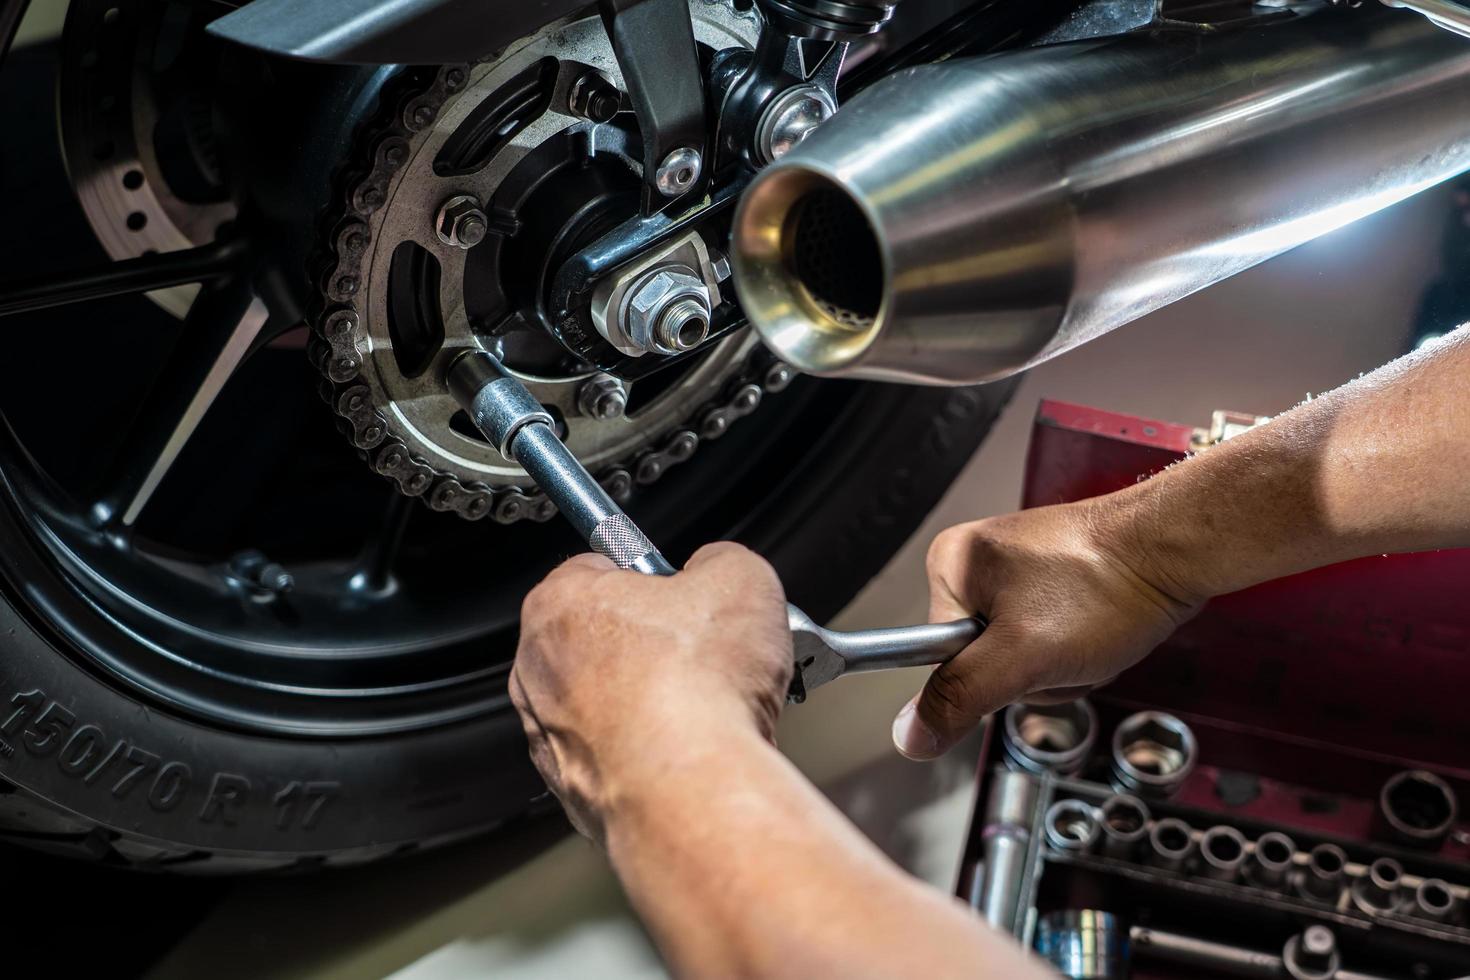
<instances>
[{"instance_id":1,"label":"man's forearm at bottom centre, below the hand steadying the extension bar","mask_svg":"<svg viewBox=\"0 0 1470 980\"><path fill-rule=\"evenodd\" d=\"M625 779L607 849L684 976L1042 977L903 874L754 732L685 730Z\"/></svg>"}]
</instances>

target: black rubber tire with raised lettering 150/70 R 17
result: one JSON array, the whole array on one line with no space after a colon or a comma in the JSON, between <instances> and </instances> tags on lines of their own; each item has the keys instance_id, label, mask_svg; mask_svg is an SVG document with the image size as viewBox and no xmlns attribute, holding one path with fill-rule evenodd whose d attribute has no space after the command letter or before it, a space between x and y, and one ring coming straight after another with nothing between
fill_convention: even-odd
<instances>
[{"instance_id":1,"label":"black rubber tire with raised lettering 150/70 R 17","mask_svg":"<svg viewBox=\"0 0 1470 980\"><path fill-rule=\"evenodd\" d=\"M729 495L735 536L776 564L794 601L831 616L938 501L1011 389L854 388L829 425L772 450L789 460L782 482L748 507ZM178 871L350 865L482 833L544 795L509 710L331 741L234 732L148 704L88 669L28 607L26 591L56 573L12 508L0 513L0 839ZM79 601L50 613L88 616ZM97 776L57 754L62 732L85 726L98 751L118 752Z\"/></svg>"}]
</instances>

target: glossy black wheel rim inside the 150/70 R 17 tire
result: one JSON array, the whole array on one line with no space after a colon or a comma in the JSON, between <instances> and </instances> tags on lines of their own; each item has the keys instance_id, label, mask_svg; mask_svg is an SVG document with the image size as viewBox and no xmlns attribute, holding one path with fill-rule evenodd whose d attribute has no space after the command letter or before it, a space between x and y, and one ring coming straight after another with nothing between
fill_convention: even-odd
<instances>
[{"instance_id":1,"label":"glossy black wheel rim inside the 150/70 R 17 tire","mask_svg":"<svg viewBox=\"0 0 1470 980\"><path fill-rule=\"evenodd\" d=\"M18 97L12 75L9 68L0 73L0 84L9 82L6 104ZM46 163L59 173L59 160ZM68 220L85 228L75 213ZM109 269L94 239L72 229L66 237L76 242L66 264ZM209 248L220 254L201 253ZM519 597L562 555L582 550L581 542L559 525L465 525L398 498L366 475L331 430L328 413L310 404L313 385L300 351L263 347L257 341L265 334L238 341L243 331L262 331L265 317L229 278L234 259L226 251L196 242L193 253L157 256L129 282L128 292L137 292L141 284L179 278L184 273L171 272L184 264L179 256L206 266L218 260L218 269L196 276L206 287L182 325L138 297L37 309L6 322L25 338L13 345L10 370L0 379L9 526L0 567L10 595L37 611L78 658L213 723L357 736L503 710ZM7 260L37 275L46 264L25 250ZM65 276L44 285L57 298L85 292ZM85 322L125 328L128 336L85 335L78 310ZM191 331L204 332L206 314L234 325L231 335L243 344L240 373L198 413L198 428L137 523L126 530L116 523L98 527L98 504L112 516L126 510L107 480L129 479L135 489L150 479L138 475L137 458L156 457L165 436L176 432L178 411L162 411L144 389L166 388L179 366L207 378L201 367L218 364L218 347L179 356ZM43 410L50 382L32 367L56 363L49 341L78 336L88 357L68 364L66 388L81 404L60 414ZM245 360L245 353L253 356ZM144 369L157 364L160 378L148 385ZM707 461L691 466L716 467L734 482L757 466L763 445L798 422L816 392L816 385L795 386L779 411L766 413L766 425L744 426L717 444L717 453L701 454ZM125 422L140 403L144 429L157 430L141 442L138 423ZM182 411L194 411L194 403L197 392L182 401ZM266 408L275 414L262 414ZM150 413L157 416L151 422ZM240 425L241 417L257 420ZM285 460L282 432L291 441ZM90 448L88 460L75 458L78 444ZM123 457L123 464L103 466L109 472L98 480L93 464L109 455ZM659 536L688 530L706 504L717 511L720 502L682 500L670 483L634 513ZM256 510L241 513L243 504ZM710 527L704 536L720 532ZM263 555L253 570L243 560L250 551ZM272 595L251 579L265 563L290 572L288 594Z\"/></svg>"}]
</instances>

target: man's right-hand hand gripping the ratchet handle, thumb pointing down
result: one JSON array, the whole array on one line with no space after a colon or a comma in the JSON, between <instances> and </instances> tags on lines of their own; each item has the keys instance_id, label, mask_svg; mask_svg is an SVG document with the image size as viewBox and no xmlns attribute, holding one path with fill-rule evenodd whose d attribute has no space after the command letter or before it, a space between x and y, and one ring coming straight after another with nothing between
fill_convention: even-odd
<instances>
[{"instance_id":1,"label":"man's right-hand hand gripping the ratchet handle, thumb pointing down","mask_svg":"<svg viewBox=\"0 0 1470 980\"><path fill-rule=\"evenodd\" d=\"M929 619L983 616L985 633L894 720L894 743L935 758L1013 701L1070 701L1142 660L1198 608L1170 595L1113 533L1111 498L958 525L929 548Z\"/></svg>"}]
</instances>

